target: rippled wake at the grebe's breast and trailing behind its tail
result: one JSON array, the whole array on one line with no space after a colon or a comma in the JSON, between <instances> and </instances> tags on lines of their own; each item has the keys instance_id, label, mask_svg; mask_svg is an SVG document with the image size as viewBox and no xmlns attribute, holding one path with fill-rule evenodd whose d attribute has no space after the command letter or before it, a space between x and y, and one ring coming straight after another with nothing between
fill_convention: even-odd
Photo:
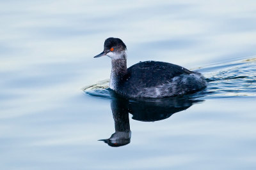
<instances>
[{"instance_id":1,"label":"rippled wake at the grebe's breast and trailing behind its tail","mask_svg":"<svg viewBox=\"0 0 256 170\"><path fill-rule=\"evenodd\" d=\"M207 89L187 95L193 98L214 99L232 97L256 97L256 58L201 67L198 71L205 75ZM84 87L86 94L111 99L109 80L99 81Z\"/></svg>"}]
</instances>

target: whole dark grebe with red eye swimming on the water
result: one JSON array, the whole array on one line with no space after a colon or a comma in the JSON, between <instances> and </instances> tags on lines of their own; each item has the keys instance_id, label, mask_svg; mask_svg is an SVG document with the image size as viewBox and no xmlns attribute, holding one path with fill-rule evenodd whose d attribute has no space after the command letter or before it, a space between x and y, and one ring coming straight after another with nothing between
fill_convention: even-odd
<instances>
[{"instance_id":1,"label":"whole dark grebe with red eye swimming on the water","mask_svg":"<svg viewBox=\"0 0 256 170\"><path fill-rule=\"evenodd\" d=\"M112 61L109 88L125 97L178 96L204 89L207 85L202 74L167 62L139 62L127 69L126 45L119 38L106 39L103 52L95 57L104 55Z\"/></svg>"}]
</instances>

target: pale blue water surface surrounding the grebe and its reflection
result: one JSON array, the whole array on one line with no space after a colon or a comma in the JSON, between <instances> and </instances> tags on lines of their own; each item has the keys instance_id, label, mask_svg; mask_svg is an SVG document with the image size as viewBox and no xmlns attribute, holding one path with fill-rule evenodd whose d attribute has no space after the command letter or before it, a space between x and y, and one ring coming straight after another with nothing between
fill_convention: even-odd
<instances>
[{"instance_id":1,"label":"pale blue water surface surrounding the grebe and its reflection","mask_svg":"<svg viewBox=\"0 0 256 170\"><path fill-rule=\"evenodd\" d=\"M0 1L1 169L255 169L255 1ZM128 66L161 60L209 79L204 102L156 122L130 115L129 145L110 100L104 39ZM252 59L250 61L244 61Z\"/></svg>"}]
</instances>

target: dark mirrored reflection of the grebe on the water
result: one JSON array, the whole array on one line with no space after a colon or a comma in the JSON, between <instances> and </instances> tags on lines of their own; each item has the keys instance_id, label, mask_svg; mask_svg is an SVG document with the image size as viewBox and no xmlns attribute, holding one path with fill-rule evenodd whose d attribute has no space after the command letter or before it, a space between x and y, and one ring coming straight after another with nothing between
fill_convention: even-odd
<instances>
[{"instance_id":1,"label":"dark mirrored reflection of the grebe on the water","mask_svg":"<svg viewBox=\"0 0 256 170\"><path fill-rule=\"evenodd\" d=\"M111 110L115 121L115 133L108 139L100 139L109 146L124 146L131 141L129 113L132 119L143 122L164 120L174 113L188 109L203 100L193 99L193 95L168 97L163 99L127 99L113 91L111 93Z\"/></svg>"}]
</instances>

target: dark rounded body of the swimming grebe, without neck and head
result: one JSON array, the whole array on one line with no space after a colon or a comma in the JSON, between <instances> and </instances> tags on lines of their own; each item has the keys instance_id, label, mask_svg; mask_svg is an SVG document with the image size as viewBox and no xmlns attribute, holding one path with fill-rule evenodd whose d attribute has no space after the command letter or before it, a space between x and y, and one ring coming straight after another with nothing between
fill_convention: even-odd
<instances>
[{"instance_id":1,"label":"dark rounded body of the swimming grebe, without neck and head","mask_svg":"<svg viewBox=\"0 0 256 170\"><path fill-rule=\"evenodd\" d=\"M116 92L128 97L167 97L206 86L200 73L167 62L145 61L127 69Z\"/></svg>"}]
</instances>

